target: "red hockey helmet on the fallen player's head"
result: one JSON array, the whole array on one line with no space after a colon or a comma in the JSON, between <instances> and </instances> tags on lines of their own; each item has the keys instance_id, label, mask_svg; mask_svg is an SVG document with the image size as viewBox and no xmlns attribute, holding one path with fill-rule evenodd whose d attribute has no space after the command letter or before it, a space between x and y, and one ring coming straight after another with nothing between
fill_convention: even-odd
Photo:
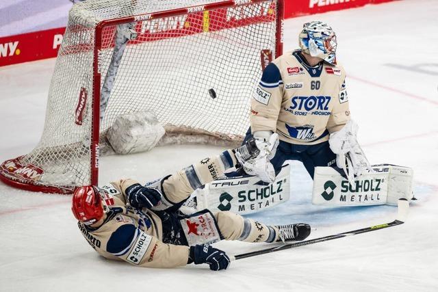
<instances>
[{"instance_id":1,"label":"red hockey helmet on the fallen player's head","mask_svg":"<svg viewBox=\"0 0 438 292\"><path fill-rule=\"evenodd\" d=\"M71 211L79 222L86 225L94 224L103 216L101 202L99 188L92 185L77 187L73 193Z\"/></svg>"}]
</instances>

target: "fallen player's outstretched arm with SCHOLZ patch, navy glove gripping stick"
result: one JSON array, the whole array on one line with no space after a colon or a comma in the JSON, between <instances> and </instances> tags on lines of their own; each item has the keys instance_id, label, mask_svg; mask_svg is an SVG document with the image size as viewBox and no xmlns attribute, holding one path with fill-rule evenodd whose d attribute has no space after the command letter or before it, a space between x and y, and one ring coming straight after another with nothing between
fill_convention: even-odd
<instances>
[{"instance_id":1,"label":"fallen player's outstretched arm with SCHOLZ patch, navy glove gripping stick","mask_svg":"<svg viewBox=\"0 0 438 292\"><path fill-rule=\"evenodd\" d=\"M181 267L207 263L212 270L227 269L227 254L209 245L173 245L163 243L133 224L119 226L107 242L107 252L140 267Z\"/></svg>"}]
</instances>

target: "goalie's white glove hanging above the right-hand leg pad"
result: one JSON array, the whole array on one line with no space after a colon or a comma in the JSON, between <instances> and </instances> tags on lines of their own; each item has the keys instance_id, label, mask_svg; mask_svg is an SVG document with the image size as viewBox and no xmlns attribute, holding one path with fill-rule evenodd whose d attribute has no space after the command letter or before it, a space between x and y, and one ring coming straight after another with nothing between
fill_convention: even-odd
<instances>
[{"instance_id":1,"label":"goalie's white glove hanging above the right-hand leg pad","mask_svg":"<svg viewBox=\"0 0 438 292\"><path fill-rule=\"evenodd\" d=\"M357 131L359 127L353 120L329 138L330 148L335 153L338 168L344 170L348 181L352 183L355 176L365 172L374 172L365 153L357 142Z\"/></svg>"}]
</instances>

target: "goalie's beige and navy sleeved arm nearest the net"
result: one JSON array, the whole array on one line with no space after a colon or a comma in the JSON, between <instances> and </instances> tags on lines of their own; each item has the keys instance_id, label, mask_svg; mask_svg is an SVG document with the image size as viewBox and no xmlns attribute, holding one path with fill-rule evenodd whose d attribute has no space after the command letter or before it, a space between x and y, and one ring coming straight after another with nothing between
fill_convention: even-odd
<instances>
[{"instance_id":1,"label":"goalie's beige and navy sleeved arm nearest the net","mask_svg":"<svg viewBox=\"0 0 438 292\"><path fill-rule=\"evenodd\" d=\"M250 124L252 133L275 133L283 101L283 80L279 68L270 63L263 70L261 81L251 101Z\"/></svg>"}]
</instances>

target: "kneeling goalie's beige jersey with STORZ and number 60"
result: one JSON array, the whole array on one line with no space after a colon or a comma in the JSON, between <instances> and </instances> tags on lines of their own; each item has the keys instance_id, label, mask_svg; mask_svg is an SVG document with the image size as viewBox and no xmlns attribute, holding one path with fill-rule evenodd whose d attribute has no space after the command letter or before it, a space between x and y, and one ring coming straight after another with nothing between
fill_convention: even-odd
<instances>
[{"instance_id":1,"label":"kneeling goalie's beige jersey with STORZ and number 60","mask_svg":"<svg viewBox=\"0 0 438 292\"><path fill-rule=\"evenodd\" d=\"M292 144L329 140L350 119L342 66L308 66L300 51L270 63L251 103L251 131L273 131Z\"/></svg>"}]
</instances>

